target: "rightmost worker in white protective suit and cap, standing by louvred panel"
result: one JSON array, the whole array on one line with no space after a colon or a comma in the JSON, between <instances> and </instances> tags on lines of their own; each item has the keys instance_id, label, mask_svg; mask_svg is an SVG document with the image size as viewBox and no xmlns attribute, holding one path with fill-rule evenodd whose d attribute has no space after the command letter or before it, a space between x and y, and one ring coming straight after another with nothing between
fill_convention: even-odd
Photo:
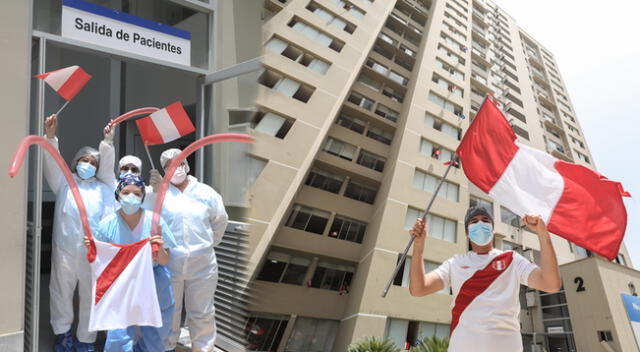
<instances>
[{"instance_id":1,"label":"rightmost worker in white protective suit and cap, standing by louvred panel","mask_svg":"<svg viewBox=\"0 0 640 352\"><path fill-rule=\"evenodd\" d=\"M164 151L160 156L161 166L166 170L178 154L180 149ZM162 210L162 218L178 243L178 247L171 250L168 265L176 305L165 347L167 351L175 351L184 298L192 351L213 351L216 339L213 303L218 283L214 247L222 241L228 216L218 192L188 172L189 164L185 160L171 178Z\"/></svg>"}]
</instances>

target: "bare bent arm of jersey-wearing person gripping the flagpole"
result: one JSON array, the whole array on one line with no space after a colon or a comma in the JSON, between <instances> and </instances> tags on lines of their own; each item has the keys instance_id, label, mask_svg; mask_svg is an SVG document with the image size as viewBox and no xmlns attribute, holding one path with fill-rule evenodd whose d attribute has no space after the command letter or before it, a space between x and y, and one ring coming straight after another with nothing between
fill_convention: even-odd
<instances>
[{"instance_id":1,"label":"bare bent arm of jersey-wearing person gripping the flagpole","mask_svg":"<svg viewBox=\"0 0 640 352\"><path fill-rule=\"evenodd\" d=\"M425 274L424 260L424 240L426 237L426 224L422 219L418 219L413 225L410 233L416 236L413 241L413 254L411 257L411 270L409 272L409 293L412 296L422 297L438 292L444 288L444 282L435 272Z\"/></svg>"}]
</instances>

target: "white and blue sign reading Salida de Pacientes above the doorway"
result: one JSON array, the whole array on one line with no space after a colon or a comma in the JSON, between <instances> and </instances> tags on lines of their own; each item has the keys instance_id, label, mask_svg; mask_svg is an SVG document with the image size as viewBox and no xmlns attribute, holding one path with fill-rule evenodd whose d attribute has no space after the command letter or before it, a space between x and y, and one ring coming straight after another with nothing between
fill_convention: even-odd
<instances>
[{"instance_id":1,"label":"white and blue sign reading Salida de Pacientes above the doorway","mask_svg":"<svg viewBox=\"0 0 640 352\"><path fill-rule=\"evenodd\" d=\"M191 33L82 0L63 1L62 36L177 64L191 64Z\"/></svg>"}]
</instances>

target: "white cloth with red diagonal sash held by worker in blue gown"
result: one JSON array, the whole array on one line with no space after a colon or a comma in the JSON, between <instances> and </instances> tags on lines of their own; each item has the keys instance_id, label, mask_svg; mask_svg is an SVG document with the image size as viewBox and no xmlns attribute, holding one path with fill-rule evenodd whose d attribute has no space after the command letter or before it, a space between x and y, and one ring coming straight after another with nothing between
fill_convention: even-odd
<instances>
[{"instance_id":1,"label":"white cloth with red diagonal sash held by worker in blue gown","mask_svg":"<svg viewBox=\"0 0 640 352\"><path fill-rule=\"evenodd\" d=\"M132 325L161 327L149 240L128 245L92 241L95 255L88 257L94 299L89 331Z\"/></svg>"}]
</instances>

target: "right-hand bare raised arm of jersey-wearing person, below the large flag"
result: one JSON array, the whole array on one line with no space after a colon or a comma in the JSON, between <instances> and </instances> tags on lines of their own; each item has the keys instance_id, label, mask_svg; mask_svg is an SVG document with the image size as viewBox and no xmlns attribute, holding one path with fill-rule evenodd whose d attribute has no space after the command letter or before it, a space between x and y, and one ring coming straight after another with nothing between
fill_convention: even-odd
<instances>
[{"instance_id":1,"label":"right-hand bare raised arm of jersey-wearing person, below the large flag","mask_svg":"<svg viewBox=\"0 0 640 352\"><path fill-rule=\"evenodd\" d=\"M562 286L562 281L547 225L539 215L525 215L523 221L529 229L538 234L540 240L540 267L529 275L529 287L545 292L557 292Z\"/></svg>"}]
</instances>

